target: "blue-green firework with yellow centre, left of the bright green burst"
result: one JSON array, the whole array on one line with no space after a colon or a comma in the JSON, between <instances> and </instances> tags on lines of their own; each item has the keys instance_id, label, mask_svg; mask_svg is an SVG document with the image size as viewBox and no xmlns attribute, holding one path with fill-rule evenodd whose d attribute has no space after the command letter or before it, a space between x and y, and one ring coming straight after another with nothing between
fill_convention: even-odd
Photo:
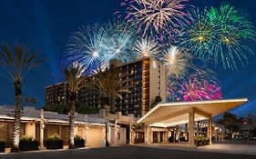
<instances>
[{"instance_id":1,"label":"blue-green firework with yellow centre, left of the bright green burst","mask_svg":"<svg viewBox=\"0 0 256 159\"><path fill-rule=\"evenodd\" d=\"M193 20L189 25L185 25L178 35L181 42L179 45L190 49L194 55L203 55L209 59L219 47L216 32L219 32L220 27L214 22L215 19L207 18L207 10L202 13L192 10L190 14Z\"/></svg>"}]
</instances>

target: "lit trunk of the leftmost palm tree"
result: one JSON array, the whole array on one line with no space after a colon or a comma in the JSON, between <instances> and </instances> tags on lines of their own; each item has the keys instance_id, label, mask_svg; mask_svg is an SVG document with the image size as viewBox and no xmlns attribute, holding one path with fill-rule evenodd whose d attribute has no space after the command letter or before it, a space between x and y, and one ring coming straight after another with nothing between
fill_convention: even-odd
<instances>
[{"instance_id":1,"label":"lit trunk of the leftmost palm tree","mask_svg":"<svg viewBox=\"0 0 256 159\"><path fill-rule=\"evenodd\" d=\"M21 118L21 82L15 82L15 121L14 121L14 134L13 134L13 147L12 152L19 150L20 138L20 118Z\"/></svg>"}]
</instances>

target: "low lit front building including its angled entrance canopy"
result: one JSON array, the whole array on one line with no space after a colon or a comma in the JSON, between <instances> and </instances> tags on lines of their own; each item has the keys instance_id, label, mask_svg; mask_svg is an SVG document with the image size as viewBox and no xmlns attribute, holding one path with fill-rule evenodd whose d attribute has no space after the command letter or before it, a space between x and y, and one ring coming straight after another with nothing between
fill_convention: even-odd
<instances>
[{"instance_id":1,"label":"low lit front building including its angled entrance canopy","mask_svg":"<svg viewBox=\"0 0 256 159\"><path fill-rule=\"evenodd\" d=\"M108 114L108 141L110 145L183 142L195 147L195 137L204 136L210 139L211 144L213 136L223 135L218 131L220 126L213 124L211 117L247 101L242 98L161 103L141 118L121 112ZM106 119L104 109L100 109L98 114L76 114L74 134L85 139L87 147L105 146ZM5 147L12 145L13 121L14 108L0 106L0 139L5 141ZM38 140L40 147L53 134L58 134L67 147L68 128L67 114L36 110L35 107L24 107L22 111L21 136Z\"/></svg>"}]
</instances>

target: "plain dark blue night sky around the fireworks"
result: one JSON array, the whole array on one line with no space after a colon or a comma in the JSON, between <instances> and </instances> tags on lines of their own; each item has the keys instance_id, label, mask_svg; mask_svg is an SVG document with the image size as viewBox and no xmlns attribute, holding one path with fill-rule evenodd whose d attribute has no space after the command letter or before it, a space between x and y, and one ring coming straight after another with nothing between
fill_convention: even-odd
<instances>
[{"instance_id":1,"label":"plain dark blue night sky around the fireworks","mask_svg":"<svg viewBox=\"0 0 256 159\"><path fill-rule=\"evenodd\" d=\"M230 3L255 26L255 0L190 0L191 5L204 8ZM81 25L102 24L117 19L120 0L1 0L0 43L30 44L39 50L46 62L24 78L23 96L36 97L40 108L45 104L45 87L64 79L67 37ZM256 51L255 43L254 53ZM249 64L238 71L212 68L220 79L223 98L248 97L250 102L232 110L238 115L256 114L256 55L249 55ZM0 105L14 104L14 88L0 71Z\"/></svg>"}]
</instances>

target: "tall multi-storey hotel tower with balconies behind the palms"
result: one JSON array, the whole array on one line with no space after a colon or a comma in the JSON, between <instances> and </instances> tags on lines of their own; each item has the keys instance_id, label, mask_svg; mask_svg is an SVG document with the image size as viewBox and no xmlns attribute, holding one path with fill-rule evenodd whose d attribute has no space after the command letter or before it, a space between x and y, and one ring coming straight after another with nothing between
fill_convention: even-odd
<instances>
[{"instance_id":1,"label":"tall multi-storey hotel tower with balconies behind the palms","mask_svg":"<svg viewBox=\"0 0 256 159\"><path fill-rule=\"evenodd\" d=\"M159 95L162 101L166 101L167 70L153 57L145 57L128 64L113 59L110 67L120 69L122 79L127 81L123 86L127 86L130 91L130 94L122 94L122 99L115 100L117 112L141 117L150 110L156 96ZM66 83L46 87L47 104L67 103L69 96ZM103 105L100 96L90 88L78 91L77 101L97 108Z\"/></svg>"}]
</instances>

